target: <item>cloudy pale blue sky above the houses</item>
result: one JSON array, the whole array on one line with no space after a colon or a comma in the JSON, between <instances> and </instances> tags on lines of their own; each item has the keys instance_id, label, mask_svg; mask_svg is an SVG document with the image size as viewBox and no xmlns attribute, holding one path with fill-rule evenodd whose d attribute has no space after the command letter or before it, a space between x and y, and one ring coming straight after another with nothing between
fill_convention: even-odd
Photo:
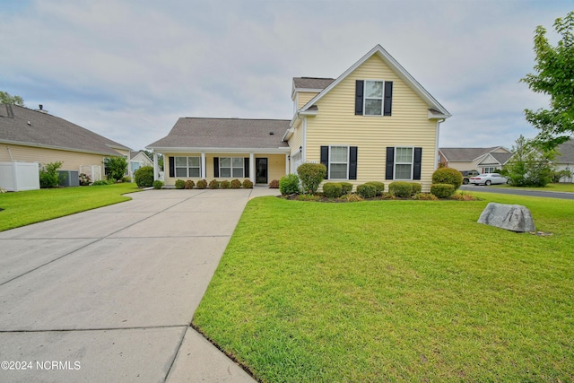
<instances>
[{"instance_id":1,"label":"cloudy pale blue sky above the houses","mask_svg":"<svg viewBox=\"0 0 574 383\"><path fill-rule=\"evenodd\" d=\"M291 79L380 44L453 115L440 146L511 147L543 108L520 78L574 0L0 0L0 90L143 149L179 117L292 116Z\"/></svg>"}]
</instances>

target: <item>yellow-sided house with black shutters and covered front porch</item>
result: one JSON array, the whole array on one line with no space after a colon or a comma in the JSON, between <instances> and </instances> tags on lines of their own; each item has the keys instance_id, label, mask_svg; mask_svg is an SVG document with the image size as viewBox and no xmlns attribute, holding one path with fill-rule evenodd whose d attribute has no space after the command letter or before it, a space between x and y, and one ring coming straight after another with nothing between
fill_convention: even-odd
<instances>
[{"instance_id":1,"label":"yellow-sided house with black shutters and covered front porch","mask_svg":"<svg viewBox=\"0 0 574 383\"><path fill-rule=\"evenodd\" d=\"M321 162L331 181L430 188L439 124L450 114L385 49L371 49L336 79L294 78L291 100L291 120L179 118L147 148L168 159L167 186L177 178L266 184Z\"/></svg>"}]
</instances>

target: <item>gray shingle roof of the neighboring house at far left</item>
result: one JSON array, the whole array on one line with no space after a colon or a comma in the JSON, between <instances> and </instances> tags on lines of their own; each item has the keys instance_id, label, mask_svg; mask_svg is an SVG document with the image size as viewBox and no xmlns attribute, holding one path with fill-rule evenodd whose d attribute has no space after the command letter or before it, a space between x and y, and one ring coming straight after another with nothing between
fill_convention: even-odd
<instances>
[{"instance_id":1,"label":"gray shingle roof of the neighboring house at far left","mask_svg":"<svg viewBox=\"0 0 574 383\"><path fill-rule=\"evenodd\" d=\"M129 150L64 118L7 104L0 104L0 142L103 155L118 155L112 148Z\"/></svg>"}]
</instances>

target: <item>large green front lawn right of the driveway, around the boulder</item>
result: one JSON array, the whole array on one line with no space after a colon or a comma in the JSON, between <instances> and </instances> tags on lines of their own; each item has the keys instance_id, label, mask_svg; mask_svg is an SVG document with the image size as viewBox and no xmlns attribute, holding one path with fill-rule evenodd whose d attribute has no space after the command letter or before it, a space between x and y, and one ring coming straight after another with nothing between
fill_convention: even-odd
<instances>
[{"instance_id":1,"label":"large green front lawn right of the driveway, around the boulder","mask_svg":"<svg viewBox=\"0 0 574 383\"><path fill-rule=\"evenodd\" d=\"M264 382L574 380L574 201L248 203L193 326ZM476 223L526 205L537 230Z\"/></svg>"}]
</instances>

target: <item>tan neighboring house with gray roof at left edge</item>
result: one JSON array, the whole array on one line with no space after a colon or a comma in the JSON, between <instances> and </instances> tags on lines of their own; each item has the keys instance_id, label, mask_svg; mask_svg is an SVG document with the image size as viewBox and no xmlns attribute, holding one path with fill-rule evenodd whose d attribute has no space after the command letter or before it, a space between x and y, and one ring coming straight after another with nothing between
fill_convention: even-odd
<instances>
[{"instance_id":1,"label":"tan neighboring house with gray roof at left edge","mask_svg":"<svg viewBox=\"0 0 574 383\"><path fill-rule=\"evenodd\" d=\"M0 104L0 162L63 161L61 170L101 179L104 158L128 156L130 149L82 126L17 105Z\"/></svg>"}]
</instances>

